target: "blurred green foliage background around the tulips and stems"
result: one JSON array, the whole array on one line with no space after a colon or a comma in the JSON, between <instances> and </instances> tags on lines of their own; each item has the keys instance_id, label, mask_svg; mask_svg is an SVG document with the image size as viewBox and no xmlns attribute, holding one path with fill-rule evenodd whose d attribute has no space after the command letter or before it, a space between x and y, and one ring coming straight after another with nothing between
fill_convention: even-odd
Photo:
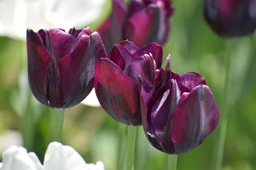
<instances>
[{"instance_id":1,"label":"blurred green foliage background around the tulips and stems","mask_svg":"<svg viewBox=\"0 0 256 170\"><path fill-rule=\"evenodd\" d=\"M172 55L172 70L176 73L196 71L204 76L221 108L225 97L226 44L233 41L222 169L256 169L256 35L220 38L205 22L202 4L201 0L173 1L175 13L171 18L170 40L164 45L164 58L169 53ZM90 27L95 30L110 10L108 0L101 17ZM220 123L222 116L220 113ZM177 169L216 167L220 123L202 145L178 156ZM63 128L63 144L75 148L86 162L101 160L106 169L116 169L117 155L124 148L118 141L125 138L125 125L115 122L102 108L79 104L67 109ZM24 42L0 37L0 136L10 130L22 132L28 151L44 159L51 140L51 109L31 96ZM167 155L151 146L139 127L134 169L166 169L166 160Z\"/></svg>"}]
</instances>

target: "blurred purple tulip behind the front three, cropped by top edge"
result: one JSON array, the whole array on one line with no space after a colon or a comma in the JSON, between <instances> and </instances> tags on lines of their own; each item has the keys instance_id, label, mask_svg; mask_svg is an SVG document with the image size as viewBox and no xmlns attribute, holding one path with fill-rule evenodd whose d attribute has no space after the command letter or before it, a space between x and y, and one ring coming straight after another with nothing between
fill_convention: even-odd
<instances>
[{"instance_id":1,"label":"blurred purple tulip behind the front three, cropped by top edge","mask_svg":"<svg viewBox=\"0 0 256 170\"><path fill-rule=\"evenodd\" d=\"M150 42L161 45L170 31L168 18L173 13L171 0L113 0L109 18L97 30L109 51L114 44L128 39L142 47Z\"/></svg>"}]
</instances>

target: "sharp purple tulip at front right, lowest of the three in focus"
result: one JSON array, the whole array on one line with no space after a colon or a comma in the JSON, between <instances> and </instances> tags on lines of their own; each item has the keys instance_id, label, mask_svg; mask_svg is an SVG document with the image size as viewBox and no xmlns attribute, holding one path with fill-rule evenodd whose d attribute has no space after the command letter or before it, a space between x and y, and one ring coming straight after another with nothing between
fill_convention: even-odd
<instances>
[{"instance_id":1,"label":"sharp purple tulip at front right, lowest of the three in focus","mask_svg":"<svg viewBox=\"0 0 256 170\"><path fill-rule=\"evenodd\" d=\"M154 82L140 76L141 117L148 141L165 153L180 154L200 145L216 128L219 110L200 74L179 76L157 69Z\"/></svg>"}]
</instances>

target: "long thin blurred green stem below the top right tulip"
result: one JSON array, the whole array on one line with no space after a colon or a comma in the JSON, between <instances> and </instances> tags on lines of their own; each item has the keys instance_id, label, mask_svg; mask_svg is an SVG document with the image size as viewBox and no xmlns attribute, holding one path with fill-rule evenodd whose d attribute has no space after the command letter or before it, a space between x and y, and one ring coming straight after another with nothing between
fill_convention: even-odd
<instances>
[{"instance_id":1,"label":"long thin blurred green stem below the top right tulip","mask_svg":"<svg viewBox=\"0 0 256 170\"><path fill-rule=\"evenodd\" d=\"M225 82L223 87L223 100L221 102L222 106L220 109L220 113L222 114L221 117L221 125L220 125L220 140L218 143L218 151L217 151L217 161L216 161L216 170L220 170L222 166L222 159L223 159L223 152L225 146L225 136L226 136L226 128L227 128L227 115L228 115L228 108L229 108L229 97L230 97L230 62L231 62L231 52L232 52L232 43L227 42L227 61L226 61L226 75L225 75Z\"/></svg>"}]
</instances>

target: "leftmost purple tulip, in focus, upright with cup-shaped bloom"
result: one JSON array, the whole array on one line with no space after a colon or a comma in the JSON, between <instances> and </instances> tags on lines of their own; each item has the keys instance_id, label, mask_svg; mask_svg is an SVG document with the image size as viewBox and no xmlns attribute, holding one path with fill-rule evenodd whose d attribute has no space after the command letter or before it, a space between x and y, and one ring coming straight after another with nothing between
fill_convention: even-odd
<instances>
[{"instance_id":1,"label":"leftmost purple tulip, in focus, upright with cup-shaped bloom","mask_svg":"<svg viewBox=\"0 0 256 170\"><path fill-rule=\"evenodd\" d=\"M97 32L27 30L28 79L33 95L52 108L69 108L93 89L94 67L107 53Z\"/></svg>"}]
</instances>

